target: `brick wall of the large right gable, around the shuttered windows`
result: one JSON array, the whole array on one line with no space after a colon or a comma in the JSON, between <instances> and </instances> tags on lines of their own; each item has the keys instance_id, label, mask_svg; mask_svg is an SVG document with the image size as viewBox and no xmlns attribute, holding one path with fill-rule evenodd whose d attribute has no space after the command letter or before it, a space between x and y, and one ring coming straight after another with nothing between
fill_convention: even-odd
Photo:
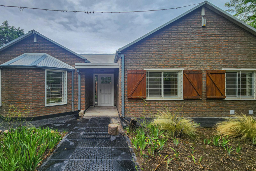
<instances>
[{"instance_id":1,"label":"brick wall of the large right gable, around the shuttered windows","mask_svg":"<svg viewBox=\"0 0 256 171\"><path fill-rule=\"evenodd\" d=\"M183 105L186 116L227 116L230 110L256 113L256 101L206 100L206 69L256 68L256 36L205 8L206 27L201 27L201 9L121 51L125 56L125 114L140 116L141 100L127 99L127 70L144 68L185 68L203 70L203 99L147 101L154 113L166 105ZM129 114L129 112L131 114Z\"/></svg>"}]
</instances>

